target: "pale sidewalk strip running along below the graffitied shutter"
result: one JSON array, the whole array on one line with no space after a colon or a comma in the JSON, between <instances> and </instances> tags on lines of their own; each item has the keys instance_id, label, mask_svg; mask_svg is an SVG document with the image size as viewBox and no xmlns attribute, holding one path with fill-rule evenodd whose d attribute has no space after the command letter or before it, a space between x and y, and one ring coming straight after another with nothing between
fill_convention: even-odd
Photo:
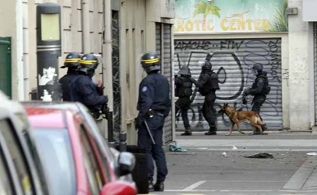
<instances>
[{"instance_id":1,"label":"pale sidewalk strip running along below the graffitied shutter","mask_svg":"<svg viewBox=\"0 0 317 195\"><path fill-rule=\"evenodd\" d=\"M234 132L231 136L225 136L227 132L218 132L217 136L205 136L204 132L194 132L193 136L179 136L176 142L178 146L186 149L198 150L228 150L236 146L243 151L316 151L317 134L312 133L287 133L267 132L267 136L249 136Z\"/></svg>"}]
</instances>

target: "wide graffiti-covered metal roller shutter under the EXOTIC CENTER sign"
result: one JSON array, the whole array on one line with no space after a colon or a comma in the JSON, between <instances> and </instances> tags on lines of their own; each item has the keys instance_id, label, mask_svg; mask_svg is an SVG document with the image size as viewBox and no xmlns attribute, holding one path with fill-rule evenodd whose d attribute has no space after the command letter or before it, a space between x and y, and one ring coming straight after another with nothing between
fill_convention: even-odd
<instances>
[{"instance_id":1,"label":"wide graffiti-covered metal roller shutter under the EXOTIC CENTER sign","mask_svg":"<svg viewBox=\"0 0 317 195\"><path fill-rule=\"evenodd\" d=\"M189 66L192 77L198 79L201 66L205 60L210 60L214 72L218 73L220 90L216 92L215 110L219 105L241 102L242 92L252 86L255 76L252 66L260 63L267 72L271 92L261 107L261 117L268 129L279 130L282 125L282 93L281 93L281 39L176 39L175 40L175 74L179 67ZM240 103L238 108L252 109L252 96L248 97L248 104ZM201 114L204 97L194 88L193 103L189 110L193 130L206 130L208 124ZM179 113L176 118L177 130L183 130L183 123ZM217 117L219 130L228 130L229 118ZM236 129L237 127L235 127ZM243 122L241 129L251 130L249 123Z\"/></svg>"}]
</instances>

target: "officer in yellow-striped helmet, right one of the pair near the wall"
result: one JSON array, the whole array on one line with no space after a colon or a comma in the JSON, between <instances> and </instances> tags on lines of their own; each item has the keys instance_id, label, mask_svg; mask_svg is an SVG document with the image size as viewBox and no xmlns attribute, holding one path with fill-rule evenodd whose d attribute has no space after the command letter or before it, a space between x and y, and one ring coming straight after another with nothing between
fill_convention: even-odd
<instances>
[{"instance_id":1,"label":"officer in yellow-striped helmet, right one of the pair near the wall","mask_svg":"<svg viewBox=\"0 0 317 195\"><path fill-rule=\"evenodd\" d=\"M99 118L100 110L108 102L108 97L103 96L101 83L96 84L92 77L98 67L98 59L94 54L85 54L79 60L77 72L79 77L71 83L72 101L84 104L94 118Z\"/></svg>"}]
</instances>

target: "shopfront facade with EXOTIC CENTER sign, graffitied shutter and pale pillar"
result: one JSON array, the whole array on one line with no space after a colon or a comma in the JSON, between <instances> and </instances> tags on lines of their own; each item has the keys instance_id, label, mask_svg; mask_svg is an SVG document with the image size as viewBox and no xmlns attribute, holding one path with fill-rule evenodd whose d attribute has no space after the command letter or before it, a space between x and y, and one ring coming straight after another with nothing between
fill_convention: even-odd
<instances>
[{"instance_id":1,"label":"shopfront facade with EXOTIC CENTER sign, graffitied shutter and pale pillar","mask_svg":"<svg viewBox=\"0 0 317 195\"><path fill-rule=\"evenodd\" d=\"M199 78L201 64L209 60L220 82L215 108L237 102L251 110L252 97L243 105L242 92L252 86L252 66L260 63L271 86L260 113L268 129L309 131L316 124L315 31L313 22L303 20L304 1L176 0L175 74L189 66ZM196 88L192 100L191 126L204 130L203 98ZM217 122L218 129L229 129L227 117L218 116ZM182 130L179 116L176 124ZM245 123L242 129L250 127Z\"/></svg>"}]
</instances>

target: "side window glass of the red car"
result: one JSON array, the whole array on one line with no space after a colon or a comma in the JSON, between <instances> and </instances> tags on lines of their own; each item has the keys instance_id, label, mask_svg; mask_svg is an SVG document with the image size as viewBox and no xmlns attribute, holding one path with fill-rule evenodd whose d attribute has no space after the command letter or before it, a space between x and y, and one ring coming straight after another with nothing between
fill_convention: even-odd
<instances>
[{"instance_id":1,"label":"side window glass of the red car","mask_svg":"<svg viewBox=\"0 0 317 195\"><path fill-rule=\"evenodd\" d=\"M94 150L92 149L88 134L83 128L80 126L80 140L83 147L83 157L86 173L89 180L90 190L92 195L99 195L99 191L102 189L102 180L101 180L101 172L99 170L97 164L97 158L94 154Z\"/></svg>"}]
</instances>

